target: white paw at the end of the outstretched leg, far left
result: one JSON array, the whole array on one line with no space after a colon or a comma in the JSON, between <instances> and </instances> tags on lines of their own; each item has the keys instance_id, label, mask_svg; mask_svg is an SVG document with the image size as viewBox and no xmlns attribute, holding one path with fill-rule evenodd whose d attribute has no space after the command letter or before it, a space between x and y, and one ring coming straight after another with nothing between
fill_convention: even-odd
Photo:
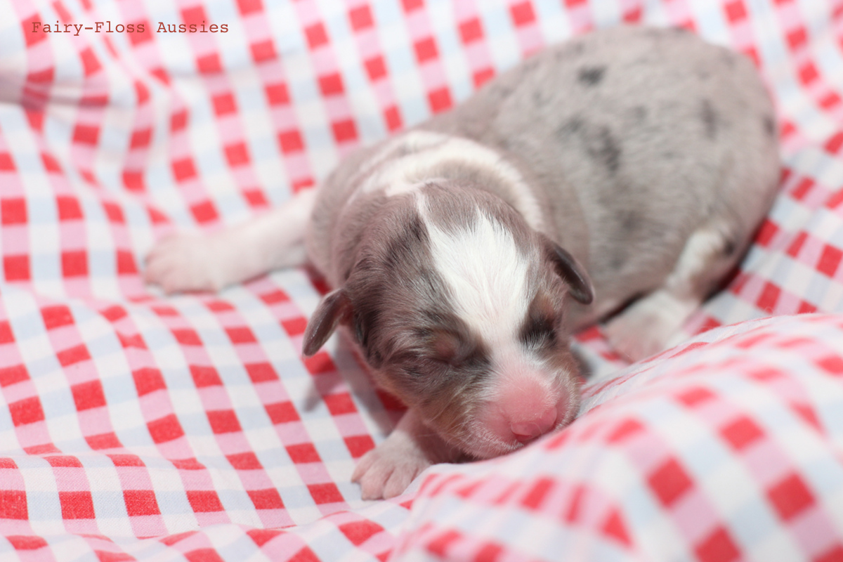
<instances>
[{"instance_id":1,"label":"white paw at the end of the outstretched leg, far left","mask_svg":"<svg viewBox=\"0 0 843 562\"><path fill-rule=\"evenodd\" d=\"M147 255L143 281L166 293L219 291L226 285L222 250L213 235L170 234L158 240Z\"/></svg>"}]
</instances>

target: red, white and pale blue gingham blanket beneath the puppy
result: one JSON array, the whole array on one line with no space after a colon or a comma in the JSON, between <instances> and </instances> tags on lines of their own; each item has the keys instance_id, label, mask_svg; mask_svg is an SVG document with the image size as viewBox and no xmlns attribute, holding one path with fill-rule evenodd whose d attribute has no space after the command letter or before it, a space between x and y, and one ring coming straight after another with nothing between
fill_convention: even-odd
<instances>
[{"instance_id":1,"label":"red, white and pale blue gingham blanket beneath the puppy","mask_svg":"<svg viewBox=\"0 0 843 562\"><path fill-rule=\"evenodd\" d=\"M143 286L170 229L621 21L753 57L786 169L701 336L630 367L578 336L565 431L362 502L400 405L341 339L300 356L317 278ZM840 0L0 3L0 559L843 559L841 95Z\"/></svg>"}]
</instances>

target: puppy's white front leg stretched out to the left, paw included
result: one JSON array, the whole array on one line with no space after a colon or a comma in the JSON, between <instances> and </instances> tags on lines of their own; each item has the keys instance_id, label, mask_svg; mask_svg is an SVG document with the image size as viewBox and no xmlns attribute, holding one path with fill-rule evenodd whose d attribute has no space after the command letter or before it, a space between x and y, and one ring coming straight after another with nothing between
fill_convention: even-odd
<instances>
[{"instance_id":1,"label":"puppy's white front leg stretched out to the left, paw included","mask_svg":"<svg viewBox=\"0 0 843 562\"><path fill-rule=\"evenodd\" d=\"M270 270L303 265L314 201L315 190L306 190L237 227L162 238L147 255L143 279L167 293L219 291Z\"/></svg>"}]
</instances>

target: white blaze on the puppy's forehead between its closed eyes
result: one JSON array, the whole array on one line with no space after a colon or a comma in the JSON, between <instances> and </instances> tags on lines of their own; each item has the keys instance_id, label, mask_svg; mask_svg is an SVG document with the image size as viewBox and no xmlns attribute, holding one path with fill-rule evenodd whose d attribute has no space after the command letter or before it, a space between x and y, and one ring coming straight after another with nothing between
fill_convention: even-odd
<instances>
[{"instance_id":1,"label":"white blaze on the puppy's forehead between its closed eyes","mask_svg":"<svg viewBox=\"0 0 843 562\"><path fill-rule=\"evenodd\" d=\"M416 205L454 312L493 351L495 345L511 345L529 307L529 256L518 249L507 227L480 209L470 225L446 231L428 218L425 197L419 196Z\"/></svg>"}]
</instances>

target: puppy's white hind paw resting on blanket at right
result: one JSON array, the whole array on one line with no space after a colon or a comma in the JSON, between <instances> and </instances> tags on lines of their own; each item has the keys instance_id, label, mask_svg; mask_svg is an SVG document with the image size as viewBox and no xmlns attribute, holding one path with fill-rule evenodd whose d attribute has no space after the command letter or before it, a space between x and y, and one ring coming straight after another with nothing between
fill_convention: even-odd
<instances>
[{"instance_id":1,"label":"puppy's white hind paw resting on blanket at right","mask_svg":"<svg viewBox=\"0 0 843 562\"><path fill-rule=\"evenodd\" d=\"M652 292L610 318L604 331L615 351L640 361L685 339L682 324L696 304L665 291Z\"/></svg>"}]
</instances>

